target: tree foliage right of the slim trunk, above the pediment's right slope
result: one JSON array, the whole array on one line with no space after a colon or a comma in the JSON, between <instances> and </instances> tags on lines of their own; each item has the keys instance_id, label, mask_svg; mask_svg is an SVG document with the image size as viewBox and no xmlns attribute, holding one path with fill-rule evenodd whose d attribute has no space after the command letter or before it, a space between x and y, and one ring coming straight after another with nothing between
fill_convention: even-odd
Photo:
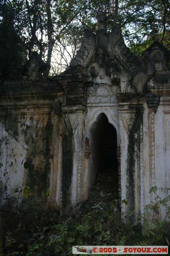
<instances>
[{"instance_id":1,"label":"tree foliage right of the slim trunk, above the pediment's right slope","mask_svg":"<svg viewBox=\"0 0 170 256\"><path fill-rule=\"evenodd\" d=\"M168 1L120 1L119 20L131 50L140 54L155 40L169 47Z\"/></svg>"}]
</instances>

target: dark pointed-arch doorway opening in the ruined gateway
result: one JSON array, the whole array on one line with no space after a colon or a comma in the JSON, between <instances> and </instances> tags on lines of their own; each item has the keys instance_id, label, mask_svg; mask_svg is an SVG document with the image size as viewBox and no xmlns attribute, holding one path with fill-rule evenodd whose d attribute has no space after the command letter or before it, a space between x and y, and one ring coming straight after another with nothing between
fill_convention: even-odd
<instances>
[{"instance_id":1,"label":"dark pointed-arch doorway opening in the ruined gateway","mask_svg":"<svg viewBox=\"0 0 170 256\"><path fill-rule=\"evenodd\" d=\"M118 160L117 132L101 113L92 124L91 134L91 187L100 190L100 195L106 195L110 203L118 204Z\"/></svg>"}]
</instances>

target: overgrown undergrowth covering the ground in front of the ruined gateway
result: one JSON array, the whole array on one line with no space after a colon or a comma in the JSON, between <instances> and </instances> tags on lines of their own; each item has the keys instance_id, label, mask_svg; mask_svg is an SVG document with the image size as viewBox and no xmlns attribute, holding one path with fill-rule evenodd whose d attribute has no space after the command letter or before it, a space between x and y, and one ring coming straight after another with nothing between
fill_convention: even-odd
<instances>
[{"instance_id":1,"label":"overgrown undergrowth covering the ground in front of the ruined gateway","mask_svg":"<svg viewBox=\"0 0 170 256\"><path fill-rule=\"evenodd\" d=\"M107 196L102 195L103 201ZM147 209L147 218L136 215L133 225L123 221L114 201L105 210L102 201L94 202L94 193L91 193L81 210L67 220L62 220L54 212L16 211L12 205L4 205L0 211L0 255L72 255L73 245L169 245L170 222L166 200L160 202L167 209L163 221L154 220L153 215L149 218ZM152 210L160 204L154 204ZM126 216L127 213L123 214L124 219Z\"/></svg>"}]
</instances>

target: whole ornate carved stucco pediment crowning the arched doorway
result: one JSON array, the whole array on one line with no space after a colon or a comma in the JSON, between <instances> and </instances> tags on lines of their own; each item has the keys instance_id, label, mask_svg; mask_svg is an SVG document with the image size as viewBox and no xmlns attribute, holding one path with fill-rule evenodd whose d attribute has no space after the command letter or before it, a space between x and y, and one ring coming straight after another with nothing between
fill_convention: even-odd
<instances>
[{"instance_id":1,"label":"whole ornate carved stucco pediment crowning the arched doorway","mask_svg":"<svg viewBox=\"0 0 170 256\"><path fill-rule=\"evenodd\" d=\"M142 58L133 55L124 43L121 26L116 25L107 34L106 15L99 18L96 35L86 32L82 47L71 65L85 67L86 83L94 82L94 77L99 76L100 69L104 67L101 80L107 75L113 84L120 81L121 92L143 92L144 85L155 72L151 56L148 52Z\"/></svg>"}]
</instances>

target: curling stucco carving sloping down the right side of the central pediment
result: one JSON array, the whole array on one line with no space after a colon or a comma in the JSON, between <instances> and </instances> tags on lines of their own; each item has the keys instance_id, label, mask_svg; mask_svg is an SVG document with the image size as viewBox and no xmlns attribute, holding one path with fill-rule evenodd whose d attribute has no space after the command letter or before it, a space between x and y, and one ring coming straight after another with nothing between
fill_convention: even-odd
<instances>
[{"instance_id":1,"label":"curling stucco carving sloping down the right side of the central pediment","mask_svg":"<svg viewBox=\"0 0 170 256\"><path fill-rule=\"evenodd\" d=\"M155 72L152 58L147 52L143 58L137 58L130 52L129 48L124 43L121 34L121 26L119 24L112 29L108 38L115 59L127 75L131 75L131 79L126 80L126 83L129 81L131 87L135 88L135 91L142 92L144 85L150 80ZM122 72L120 72L120 75L118 76L121 76L121 73ZM124 92L124 85L122 83L121 90Z\"/></svg>"}]
</instances>

